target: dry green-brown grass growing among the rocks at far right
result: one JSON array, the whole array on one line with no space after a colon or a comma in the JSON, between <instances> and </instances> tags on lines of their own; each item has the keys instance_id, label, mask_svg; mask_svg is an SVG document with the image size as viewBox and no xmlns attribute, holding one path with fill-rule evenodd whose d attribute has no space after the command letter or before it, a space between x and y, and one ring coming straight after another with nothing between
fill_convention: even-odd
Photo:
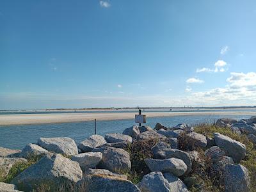
<instances>
[{"instance_id":1,"label":"dry green-brown grass growing among the rocks at far right","mask_svg":"<svg viewBox=\"0 0 256 192\"><path fill-rule=\"evenodd\" d=\"M244 134L236 134L232 132L230 129L225 127L216 127L215 125L202 124L195 127L195 132L204 134L205 136L209 136L213 138L214 132L220 132L225 136L232 138L233 140L237 140L244 145L246 145L246 157L243 159L240 164L245 166L248 169L250 175L250 190L256 192L256 148L253 143L246 138Z\"/></svg>"}]
</instances>

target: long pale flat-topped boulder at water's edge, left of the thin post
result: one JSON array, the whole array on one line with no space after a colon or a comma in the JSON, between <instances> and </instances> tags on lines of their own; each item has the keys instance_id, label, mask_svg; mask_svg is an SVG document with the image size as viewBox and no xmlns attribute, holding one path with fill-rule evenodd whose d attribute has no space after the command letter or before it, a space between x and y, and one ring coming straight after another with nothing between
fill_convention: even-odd
<instances>
[{"instance_id":1,"label":"long pale flat-topped boulder at water's edge, left of the thin post","mask_svg":"<svg viewBox=\"0 0 256 192\"><path fill-rule=\"evenodd\" d=\"M71 138L40 138L37 144L51 152L63 154L66 156L74 156L78 154L76 143Z\"/></svg>"}]
</instances>

